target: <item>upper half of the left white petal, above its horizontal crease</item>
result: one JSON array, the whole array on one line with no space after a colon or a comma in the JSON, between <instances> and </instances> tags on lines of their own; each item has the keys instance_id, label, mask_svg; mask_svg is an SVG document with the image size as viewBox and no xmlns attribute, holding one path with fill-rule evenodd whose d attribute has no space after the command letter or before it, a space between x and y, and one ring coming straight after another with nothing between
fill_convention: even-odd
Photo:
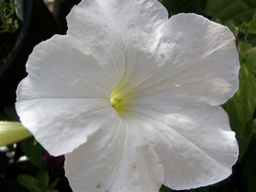
<instances>
[{"instance_id":1,"label":"upper half of the left white petal, above its horizontal crease","mask_svg":"<svg viewBox=\"0 0 256 192\"><path fill-rule=\"evenodd\" d=\"M70 36L56 35L34 48L20 82L18 100L107 98L116 82L96 58Z\"/></svg>"}]
</instances>

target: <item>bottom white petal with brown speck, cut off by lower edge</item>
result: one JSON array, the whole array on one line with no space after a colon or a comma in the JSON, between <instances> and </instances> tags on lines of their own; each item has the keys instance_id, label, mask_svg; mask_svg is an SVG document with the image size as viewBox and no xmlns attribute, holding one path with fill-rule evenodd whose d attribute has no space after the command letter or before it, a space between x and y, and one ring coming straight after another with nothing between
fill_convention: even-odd
<instances>
[{"instance_id":1,"label":"bottom white petal with brown speck, cut off by lower edge","mask_svg":"<svg viewBox=\"0 0 256 192\"><path fill-rule=\"evenodd\" d=\"M157 192L164 170L144 154L135 132L121 118L86 144L65 155L65 172L74 191Z\"/></svg>"}]
</instances>

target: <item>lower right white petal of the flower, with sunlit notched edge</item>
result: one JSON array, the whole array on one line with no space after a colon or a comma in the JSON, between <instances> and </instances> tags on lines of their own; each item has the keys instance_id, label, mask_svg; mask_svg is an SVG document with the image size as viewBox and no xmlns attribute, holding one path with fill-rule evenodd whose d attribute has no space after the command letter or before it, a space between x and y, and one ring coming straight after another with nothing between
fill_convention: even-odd
<instances>
[{"instance_id":1,"label":"lower right white petal of the flower, with sunlit notched edge","mask_svg":"<svg viewBox=\"0 0 256 192\"><path fill-rule=\"evenodd\" d=\"M142 144L165 167L165 182L176 190L217 183L228 177L238 156L235 133L221 107L202 104L134 107L125 112Z\"/></svg>"}]
</instances>

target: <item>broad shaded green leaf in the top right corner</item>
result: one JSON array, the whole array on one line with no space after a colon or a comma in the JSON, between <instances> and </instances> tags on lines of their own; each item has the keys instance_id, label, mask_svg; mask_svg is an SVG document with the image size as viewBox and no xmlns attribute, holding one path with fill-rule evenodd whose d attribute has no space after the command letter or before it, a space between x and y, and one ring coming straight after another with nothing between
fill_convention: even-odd
<instances>
[{"instance_id":1,"label":"broad shaded green leaf in the top right corner","mask_svg":"<svg viewBox=\"0 0 256 192\"><path fill-rule=\"evenodd\" d=\"M208 0L206 4L208 15L221 19L223 23L233 20L238 25L249 22L255 9L255 0Z\"/></svg>"}]
</instances>

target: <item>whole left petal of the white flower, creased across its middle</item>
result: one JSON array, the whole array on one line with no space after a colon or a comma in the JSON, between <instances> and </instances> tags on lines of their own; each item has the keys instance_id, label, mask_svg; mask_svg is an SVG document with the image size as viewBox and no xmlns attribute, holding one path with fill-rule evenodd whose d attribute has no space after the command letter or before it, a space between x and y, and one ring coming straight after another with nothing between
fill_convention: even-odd
<instances>
[{"instance_id":1,"label":"whole left petal of the white flower, creased across its middle","mask_svg":"<svg viewBox=\"0 0 256 192\"><path fill-rule=\"evenodd\" d=\"M109 101L115 84L104 67L70 36L56 35L29 56L16 110L50 154L71 152L116 118Z\"/></svg>"}]
</instances>

